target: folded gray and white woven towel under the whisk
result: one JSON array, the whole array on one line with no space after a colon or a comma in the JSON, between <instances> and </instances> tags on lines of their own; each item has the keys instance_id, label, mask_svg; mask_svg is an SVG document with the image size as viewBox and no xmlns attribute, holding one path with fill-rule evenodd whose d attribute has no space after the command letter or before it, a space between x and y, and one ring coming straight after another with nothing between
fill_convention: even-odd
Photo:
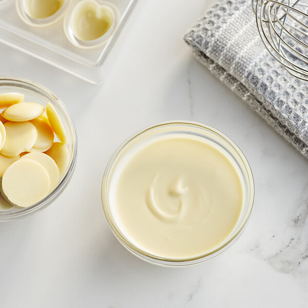
<instances>
[{"instance_id":1,"label":"folded gray and white woven towel under the whisk","mask_svg":"<svg viewBox=\"0 0 308 308\"><path fill-rule=\"evenodd\" d=\"M197 59L308 158L308 82L265 49L251 0L218 0L184 36Z\"/></svg>"}]
</instances>

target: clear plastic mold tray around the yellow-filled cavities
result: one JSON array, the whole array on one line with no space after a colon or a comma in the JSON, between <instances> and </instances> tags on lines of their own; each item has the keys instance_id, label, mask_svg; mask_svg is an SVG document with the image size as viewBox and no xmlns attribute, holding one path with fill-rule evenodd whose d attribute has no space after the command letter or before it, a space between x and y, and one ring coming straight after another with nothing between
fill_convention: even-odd
<instances>
[{"instance_id":1,"label":"clear plastic mold tray around the yellow-filled cavities","mask_svg":"<svg viewBox=\"0 0 308 308\"><path fill-rule=\"evenodd\" d=\"M54 19L32 20L21 11L25 0L0 0L0 41L32 54L90 83L101 83L112 62L110 50L138 0L94 0L114 10L114 28L98 46L79 44L71 35L69 16L83 0L65 0ZM37 0L36 0L37 1ZM43 0L42 0L43 1ZM50 17L48 17L50 18ZM43 22L42 22L43 21ZM43 25L42 25L43 23Z\"/></svg>"}]
</instances>

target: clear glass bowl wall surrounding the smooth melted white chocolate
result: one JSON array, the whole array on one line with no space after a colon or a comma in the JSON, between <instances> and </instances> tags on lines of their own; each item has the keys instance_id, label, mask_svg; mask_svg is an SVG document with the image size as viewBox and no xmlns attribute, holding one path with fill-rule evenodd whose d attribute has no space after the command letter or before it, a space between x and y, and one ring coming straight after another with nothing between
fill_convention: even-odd
<instances>
[{"instance_id":1,"label":"clear glass bowl wall surrounding the smooth melted white chocolate","mask_svg":"<svg viewBox=\"0 0 308 308\"><path fill-rule=\"evenodd\" d=\"M206 254L195 256L188 259L169 259L161 256L152 255L146 251L143 251L140 247L134 245L128 237L121 232L119 225L117 224L112 214L112 198L110 198L111 180L115 174L115 169L120 164L122 159L130 153L132 150L139 147L142 143L148 142L151 139L162 136L175 136L176 134L188 134L196 136L198 138L204 138L211 142L214 142L217 146L221 147L222 151L225 151L230 159L232 159L238 169L240 176L242 177L243 185L243 204L239 220L233 229L232 233L216 247L213 251L209 251ZM114 202L114 201L113 201ZM161 266L186 266L193 265L200 262L204 262L215 256L219 255L226 248L232 245L235 240L242 233L248 218L251 214L254 202L254 179L251 168L243 155L239 147L223 133L210 126L186 121L172 121L159 123L142 131L137 132L132 137L127 139L120 147L115 150L110 158L102 182L102 203L105 212L105 216L109 223L109 226L114 236L120 241L120 243L133 255L145 260L149 263L161 265Z\"/></svg>"}]
</instances>

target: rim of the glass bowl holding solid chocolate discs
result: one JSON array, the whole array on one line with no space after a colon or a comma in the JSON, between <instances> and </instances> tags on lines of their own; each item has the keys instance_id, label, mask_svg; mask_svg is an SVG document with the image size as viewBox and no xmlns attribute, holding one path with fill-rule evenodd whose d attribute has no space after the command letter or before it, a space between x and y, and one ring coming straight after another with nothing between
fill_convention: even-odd
<instances>
[{"instance_id":1,"label":"rim of the glass bowl holding solid chocolate discs","mask_svg":"<svg viewBox=\"0 0 308 308\"><path fill-rule=\"evenodd\" d=\"M5 84L3 84L5 83ZM10 84L11 83L11 84ZM17 83L17 84L15 84ZM46 208L48 205L51 204L52 200L58 197L63 189L68 184L72 173L74 171L75 165L76 165L76 157L77 157L77 148L78 148L78 138L77 138L77 132L74 125L74 122L69 114L68 109L66 108L65 104L62 102L62 100L57 97L56 94L54 94L51 90L49 90L47 87L41 85L40 83L37 83L35 81L32 81L30 79L26 78L20 78L15 76L8 76L8 75L0 75L0 89L2 86L7 87L16 87L21 88L21 85L28 85L30 88L37 89L38 91L43 92L44 94L50 96L53 101L52 104L57 104L58 107L60 107L61 111L65 115L65 120L69 124L69 127L71 129L72 133L72 153L70 156L70 162L68 169L66 171L66 174L62 178L61 182L57 184L57 186L53 189L53 191L50 192L44 199L42 199L40 202L37 202L31 206L25 207L25 208L18 208L18 211L16 212L10 212L9 210L6 211L0 211L0 222L5 221L12 221L16 219L21 219L24 217L27 217L28 215L34 214L37 211L40 211L44 208ZM30 91L35 93L35 90L31 89Z\"/></svg>"}]
</instances>

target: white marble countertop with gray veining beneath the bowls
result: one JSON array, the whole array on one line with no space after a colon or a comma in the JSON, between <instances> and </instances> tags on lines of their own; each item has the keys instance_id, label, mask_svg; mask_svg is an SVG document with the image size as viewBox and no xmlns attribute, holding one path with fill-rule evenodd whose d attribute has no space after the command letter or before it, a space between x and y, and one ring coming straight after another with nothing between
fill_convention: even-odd
<instances>
[{"instance_id":1,"label":"white marble countertop with gray veining beneath the bowls","mask_svg":"<svg viewBox=\"0 0 308 308\"><path fill-rule=\"evenodd\" d=\"M1 74L54 91L79 136L78 163L59 199L0 225L1 307L307 307L308 161L184 44L184 32L214 1L141 0L121 57L100 86L0 45ZM176 119L232 138L251 164L256 188L239 240L214 260L179 269L127 252L101 204L114 149L144 126Z\"/></svg>"}]
</instances>

